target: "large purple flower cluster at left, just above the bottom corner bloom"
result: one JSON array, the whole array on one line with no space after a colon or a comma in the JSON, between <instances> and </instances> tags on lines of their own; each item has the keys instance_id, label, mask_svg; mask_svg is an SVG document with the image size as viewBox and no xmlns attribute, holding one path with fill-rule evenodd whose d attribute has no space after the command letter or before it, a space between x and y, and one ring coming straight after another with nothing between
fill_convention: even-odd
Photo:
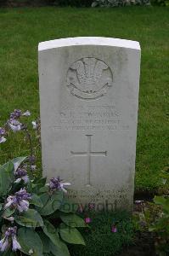
<instances>
[{"instance_id":1,"label":"large purple flower cluster at left, just above the bottom corner bloom","mask_svg":"<svg viewBox=\"0 0 169 256\"><path fill-rule=\"evenodd\" d=\"M25 188L20 189L14 195L9 195L7 198L7 203L5 204L5 209L8 207L15 207L19 212L26 212L29 209L31 199L31 194L27 193Z\"/></svg>"}]
</instances>

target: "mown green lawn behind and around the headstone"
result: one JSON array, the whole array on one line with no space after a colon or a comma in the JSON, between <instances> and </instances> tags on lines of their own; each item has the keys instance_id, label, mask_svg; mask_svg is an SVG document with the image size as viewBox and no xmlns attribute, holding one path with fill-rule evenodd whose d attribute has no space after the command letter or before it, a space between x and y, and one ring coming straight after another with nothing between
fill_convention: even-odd
<instances>
[{"instance_id":1,"label":"mown green lawn behind and around the headstone","mask_svg":"<svg viewBox=\"0 0 169 256\"><path fill-rule=\"evenodd\" d=\"M0 125L14 108L39 116L37 44L54 38L101 36L137 40L142 48L136 189L159 186L168 162L169 9L0 9ZM30 120L31 120L30 119ZM20 135L0 145L0 163L28 154ZM40 150L36 148L41 172Z\"/></svg>"}]
</instances>

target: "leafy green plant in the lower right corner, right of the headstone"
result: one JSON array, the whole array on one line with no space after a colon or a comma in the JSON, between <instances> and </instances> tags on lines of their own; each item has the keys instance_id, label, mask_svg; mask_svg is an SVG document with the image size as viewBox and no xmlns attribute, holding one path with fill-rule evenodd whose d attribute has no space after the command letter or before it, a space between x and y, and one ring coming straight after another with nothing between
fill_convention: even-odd
<instances>
[{"instance_id":1,"label":"leafy green plant in the lower right corner, right of the headstone","mask_svg":"<svg viewBox=\"0 0 169 256\"><path fill-rule=\"evenodd\" d=\"M169 253L169 168L161 172L162 183L166 187L166 195L155 196L154 202L145 204L137 201L141 211L134 215L137 230L149 230L155 235L155 249L160 256Z\"/></svg>"}]
</instances>

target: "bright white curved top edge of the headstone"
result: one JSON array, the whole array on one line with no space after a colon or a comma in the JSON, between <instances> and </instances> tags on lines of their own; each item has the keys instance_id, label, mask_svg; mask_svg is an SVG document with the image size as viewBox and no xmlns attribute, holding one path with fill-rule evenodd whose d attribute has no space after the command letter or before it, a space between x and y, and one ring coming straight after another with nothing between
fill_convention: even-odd
<instances>
[{"instance_id":1,"label":"bright white curved top edge of the headstone","mask_svg":"<svg viewBox=\"0 0 169 256\"><path fill-rule=\"evenodd\" d=\"M73 45L105 45L129 49L140 49L137 41L125 40L119 38L101 38L101 37L80 37L80 38L61 38L42 42L38 45L38 50L54 49L59 47Z\"/></svg>"}]
</instances>

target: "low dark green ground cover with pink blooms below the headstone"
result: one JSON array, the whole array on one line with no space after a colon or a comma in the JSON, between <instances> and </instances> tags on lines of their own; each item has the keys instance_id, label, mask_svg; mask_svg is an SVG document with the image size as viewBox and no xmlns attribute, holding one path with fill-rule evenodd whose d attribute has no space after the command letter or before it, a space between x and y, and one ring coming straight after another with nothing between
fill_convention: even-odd
<instances>
[{"instance_id":1,"label":"low dark green ground cover with pink blooms below the headstone","mask_svg":"<svg viewBox=\"0 0 169 256\"><path fill-rule=\"evenodd\" d=\"M122 247L132 244L133 226L127 212L89 212L92 222L90 229L82 229L86 247L70 246L72 256L113 256L121 252ZM111 232L111 226L116 224L117 232Z\"/></svg>"}]
</instances>

